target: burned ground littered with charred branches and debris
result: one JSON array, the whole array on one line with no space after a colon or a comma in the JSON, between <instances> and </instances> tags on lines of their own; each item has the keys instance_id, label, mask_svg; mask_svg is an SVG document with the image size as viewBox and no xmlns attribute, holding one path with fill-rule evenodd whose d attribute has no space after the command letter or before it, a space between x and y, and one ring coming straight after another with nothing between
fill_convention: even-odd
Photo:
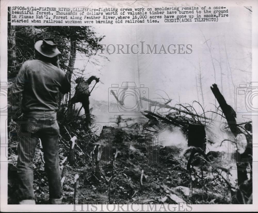
<instances>
[{"instance_id":1,"label":"burned ground littered with charred branches and debris","mask_svg":"<svg viewBox=\"0 0 258 213\"><path fill-rule=\"evenodd\" d=\"M151 116L154 117L153 114ZM169 203L181 200L193 204L237 203L236 180L230 182L228 171L219 167L223 153L209 152L206 155L198 148L187 146L189 121L198 125L201 122L193 122L187 116L170 114L170 118L165 118L161 113L158 116L155 122L146 116L139 123L130 119L121 121L120 118L114 122L116 125L103 126L100 134L96 134L94 128L86 130L81 123L83 119L66 125L60 123L59 157L63 203L72 204L72 199L84 199L84 203ZM181 138L182 141L176 144L181 145L164 146L155 143L155 137L164 128L173 133L178 131L179 126L184 140ZM71 149L69 141L73 136L77 140L74 149ZM17 158L17 135L10 132L9 140L11 167ZM178 138L171 137L170 140ZM47 176L40 144L36 148L34 162L37 167L34 171L36 203L47 204ZM17 188L15 172L9 169L9 204L17 203L13 196ZM79 175L77 181L76 174ZM246 199L252 202L247 195Z\"/></svg>"}]
</instances>

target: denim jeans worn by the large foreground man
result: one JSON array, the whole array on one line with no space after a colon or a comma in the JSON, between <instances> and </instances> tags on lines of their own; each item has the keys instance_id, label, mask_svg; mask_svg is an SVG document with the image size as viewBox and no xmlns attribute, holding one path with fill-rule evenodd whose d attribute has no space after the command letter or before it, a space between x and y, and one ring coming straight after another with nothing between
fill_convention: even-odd
<instances>
[{"instance_id":1,"label":"denim jeans worn by the large foreground man","mask_svg":"<svg viewBox=\"0 0 258 213\"><path fill-rule=\"evenodd\" d=\"M35 127L35 123L37 127ZM38 139L41 139L45 171L49 182L49 198L62 197L59 168L59 126L55 112L31 112L23 115L22 132L30 130L30 139L20 139L18 147L19 200L34 200L33 157Z\"/></svg>"}]
</instances>

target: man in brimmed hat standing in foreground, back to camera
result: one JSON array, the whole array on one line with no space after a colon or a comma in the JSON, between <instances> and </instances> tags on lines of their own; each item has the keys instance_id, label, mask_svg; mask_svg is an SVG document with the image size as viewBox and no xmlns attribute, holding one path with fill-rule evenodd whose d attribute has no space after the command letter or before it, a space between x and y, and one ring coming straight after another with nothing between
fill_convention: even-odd
<instances>
[{"instance_id":1,"label":"man in brimmed hat standing in foreground, back to camera","mask_svg":"<svg viewBox=\"0 0 258 213\"><path fill-rule=\"evenodd\" d=\"M38 60L29 60L21 66L15 86L22 93L22 131L30 140L19 141L18 178L20 204L35 204L33 191L33 156L38 139L44 152L45 171L49 181L51 204L61 204L62 188L59 168L59 126L57 123L57 95L70 91L70 82L59 68L57 43L45 38L35 43ZM13 105L13 111L15 107ZM32 127L32 126L33 127Z\"/></svg>"}]
</instances>

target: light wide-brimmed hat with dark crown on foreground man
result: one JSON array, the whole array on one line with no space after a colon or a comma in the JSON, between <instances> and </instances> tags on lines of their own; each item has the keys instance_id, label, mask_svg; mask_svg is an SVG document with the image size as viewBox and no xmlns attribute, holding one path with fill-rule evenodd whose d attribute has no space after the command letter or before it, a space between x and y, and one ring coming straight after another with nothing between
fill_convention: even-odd
<instances>
[{"instance_id":1,"label":"light wide-brimmed hat with dark crown on foreground man","mask_svg":"<svg viewBox=\"0 0 258 213\"><path fill-rule=\"evenodd\" d=\"M44 38L35 43L35 49L43 56L53 58L60 54L54 38Z\"/></svg>"}]
</instances>

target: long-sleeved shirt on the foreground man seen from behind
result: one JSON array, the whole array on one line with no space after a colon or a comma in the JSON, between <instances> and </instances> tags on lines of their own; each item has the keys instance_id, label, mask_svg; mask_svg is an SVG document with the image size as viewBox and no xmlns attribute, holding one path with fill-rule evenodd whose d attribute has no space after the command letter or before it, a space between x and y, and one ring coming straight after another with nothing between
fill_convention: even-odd
<instances>
[{"instance_id":1,"label":"long-sleeved shirt on the foreground man seen from behind","mask_svg":"<svg viewBox=\"0 0 258 213\"><path fill-rule=\"evenodd\" d=\"M70 91L71 85L63 70L41 60L25 61L15 80L22 94L22 112L54 111L58 109L58 92ZM16 97L18 97L16 95ZM13 100L12 111L20 105Z\"/></svg>"}]
</instances>

